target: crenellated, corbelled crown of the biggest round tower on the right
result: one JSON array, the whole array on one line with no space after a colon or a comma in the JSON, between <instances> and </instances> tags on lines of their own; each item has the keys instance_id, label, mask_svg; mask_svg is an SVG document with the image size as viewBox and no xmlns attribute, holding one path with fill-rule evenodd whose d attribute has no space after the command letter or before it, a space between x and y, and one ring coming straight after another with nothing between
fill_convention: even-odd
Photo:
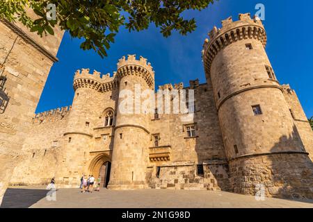
<instances>
[{"instance_id":1,"label":"crenellated, corbelled crown of the biggest round tower on the right","mask_svg":"<svg viewBox=\"0 0 313 222\"><path fill-rule=\"evenodd\" d=\"M266 46L267 37L262 21L258 17L251 19L250 13L239 14L239 20L234 22L232 17L222 21L222 28L214 28L208 33L209 38L204 40L202 60L204 69L209 74L211 62L217 53L227 45L240 40L255 39Z\"/></svg>"}]
</instances>

